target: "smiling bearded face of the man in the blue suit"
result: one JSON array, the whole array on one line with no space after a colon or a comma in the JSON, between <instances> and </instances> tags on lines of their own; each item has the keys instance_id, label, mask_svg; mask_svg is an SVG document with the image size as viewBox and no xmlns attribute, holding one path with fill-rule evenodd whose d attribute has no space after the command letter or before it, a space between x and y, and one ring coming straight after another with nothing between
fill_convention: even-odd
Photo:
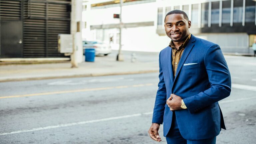
<instances>
[{"instance_id":1,"label":"smiling bearded face of the man in the blue suit","mask_svg":"<svg viewBox=\"0 0 256 144\"><path fill-rule=\"evenodd\" d=\"M170 14L165 18L165 32L173 42L183 42L189 35L191 21L187 21L183 14Z\"/></svg>"}]
</instances>

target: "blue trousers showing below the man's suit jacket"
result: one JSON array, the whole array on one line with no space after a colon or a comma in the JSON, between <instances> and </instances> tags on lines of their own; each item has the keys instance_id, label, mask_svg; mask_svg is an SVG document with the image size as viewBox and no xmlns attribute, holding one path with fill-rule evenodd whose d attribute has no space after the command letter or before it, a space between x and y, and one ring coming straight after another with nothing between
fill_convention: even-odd
<instances>
[{"instance_id":1,"label":"blue trousers showing below the man's suit jacket","mask_svg":"<svg viewBox=\"0 0 256 144\"><path fill-rule=\"evenodd\" d=\"M216 137L202 140L186 140L184 139L178 128L175 112L172 116L172 126L166 136L167 144L216 144Z\"/></svg>"}]
</instances>

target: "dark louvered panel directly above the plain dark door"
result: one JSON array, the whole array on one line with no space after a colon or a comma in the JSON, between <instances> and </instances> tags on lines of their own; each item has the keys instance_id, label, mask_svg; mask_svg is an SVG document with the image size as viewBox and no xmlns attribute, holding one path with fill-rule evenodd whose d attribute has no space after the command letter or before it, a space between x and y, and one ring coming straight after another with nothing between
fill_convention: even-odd
<instances>
[{"instance_id":1,"label":"dark louvered panel directly above the plain dark door","mask_svg":"<svg viewBox=\"0 0 256 144\"><path fill-rule=\"evenodd\" d=\"M21 19L21 1L0 1L0 19L1 20L20 20Z\"/></svg>"}]
</instances>

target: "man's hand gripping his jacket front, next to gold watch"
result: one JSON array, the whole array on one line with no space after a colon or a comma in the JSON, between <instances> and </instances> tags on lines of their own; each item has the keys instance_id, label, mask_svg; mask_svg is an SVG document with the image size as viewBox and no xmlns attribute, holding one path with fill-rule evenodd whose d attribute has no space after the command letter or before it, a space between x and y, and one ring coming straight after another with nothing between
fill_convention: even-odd
<instances>
[{"instance_id":1,"label":"man's hand gripping his jacket front, next to gold watch","mask_svg":"<svg viewBox=\"0 0 256 144\"><path fill-rule=\"evenodd\" d=\"M171 111L180 110L181 108L181 100L180 96L175 94L171 94L171 96L167 99L166 104L170 108Z\"/></svg>"}]
</instances>

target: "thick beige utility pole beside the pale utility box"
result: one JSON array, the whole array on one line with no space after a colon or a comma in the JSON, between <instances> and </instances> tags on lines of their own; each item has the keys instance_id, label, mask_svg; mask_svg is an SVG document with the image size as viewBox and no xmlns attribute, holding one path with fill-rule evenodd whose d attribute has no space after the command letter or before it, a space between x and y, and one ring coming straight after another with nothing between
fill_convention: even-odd
<instances>
[{"instance_id":1,"label":"thick beige utility pole beside the pale utility box","mask_svg":"<svg viewBox=\"0 0 256 144\"><path fill-rule=\"evenodd\" d=\"M76 23L76 1L71 0L71 35L72 35L72 49L73 52L70 56L71 58L71 68L77 68L78 63L76 59L76 32L77 32L77 23Z\"/></svg>"}]
</instances>

